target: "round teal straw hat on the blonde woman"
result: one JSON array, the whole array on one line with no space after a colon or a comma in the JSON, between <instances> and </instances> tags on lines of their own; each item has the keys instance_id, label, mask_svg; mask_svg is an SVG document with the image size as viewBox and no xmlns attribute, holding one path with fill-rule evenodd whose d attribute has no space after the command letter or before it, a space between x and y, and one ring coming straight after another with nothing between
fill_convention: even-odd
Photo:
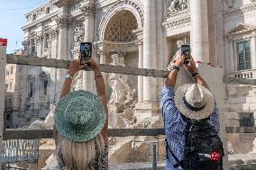
<instances>
[{"instance_id":1,"label":"round teal straw hat on the blonde woman","mask_svg":"<svg viewBox=\"0 0 256 170\"><path fill-rule=\"evenodd\" d=\"M94 139L105 125L100 98L87 91L71 92L57 104L54 125L64 138L76 142Z\"/></svg>"}]
</instances>

